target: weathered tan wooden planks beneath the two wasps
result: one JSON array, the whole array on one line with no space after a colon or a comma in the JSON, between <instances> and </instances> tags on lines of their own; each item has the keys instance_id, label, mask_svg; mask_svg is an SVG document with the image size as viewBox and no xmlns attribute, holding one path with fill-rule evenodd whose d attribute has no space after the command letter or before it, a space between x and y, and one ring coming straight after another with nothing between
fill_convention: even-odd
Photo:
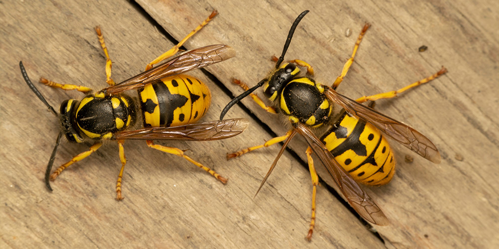
<instances>
[{"instance_id":1,"label":"weathered tan wooden planks beneath the two wasps","mask_svg":"<svg viewBox=\"0 0 499 249\"><path fill-rule=\"evenodd\" d=\"M247 5L245 5L247 4ZM371 1L3 1L1 8L0 247L125 248L494 248L499 245L499 6L494 1L417 1L400 5ZM120 163L107 143L68 168L49 193L43 173L58 124L23 82L22 60L39 77L93 89L105 86L105 58L93 31L101 25L113 79L141 72L172 43L161 25L180 40L213 9L220 12L185 47L228 44L237 56L210 66L219 82L200 70L213 95L207 120L216 120L239 78L250 86L272 67L289 26L304 9L286 59L315 67L317 80L332 81L348 59L364 22L372 24L356 61L339 88L352 98L398 89L445 65L449 73L397 99L377 102L384 114L418 129L439 148L434 165L392 143L398 169L387 186L366 188L391 221L366 229L343 201L324 187L317 193L317 225L304 240L310 217L306 164L285 152L258 196L252 199L279 146L231 161L226 152L283 134L286 126L250 100L228 118L249 118L236 138L213 142L168 142L214 168L223 185L182 158L153 151L141 141L125 144L128 159L122 202L114 200ZM352 34L345 36L345 30ZM429 49L418 52L421 45ZM82 97L39 87L58 109ZM261 94L260 94L261 95ZM257 120L253 120L256 117ZM262 123L259 123L261 120ZM63 142L55 165L86 150ZM290 146L304 158L305 145ZM412 163L404 156L414 157ZM320 168L320 167L318 167ZM327 180L327 179L326 179Z\"/></svg>"}]
</instances>

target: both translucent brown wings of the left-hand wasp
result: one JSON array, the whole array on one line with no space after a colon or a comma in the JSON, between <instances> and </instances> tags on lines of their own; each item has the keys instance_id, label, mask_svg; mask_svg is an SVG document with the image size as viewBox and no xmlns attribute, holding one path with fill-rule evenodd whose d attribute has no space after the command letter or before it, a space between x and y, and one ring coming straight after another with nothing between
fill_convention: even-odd
<instances>
[{"instance_id":1,"label":"both translucent brown wings of the left-hand wasp","mask_svg":"<svg viewBox=\"0 0 499 249\"><path fill-rule=\"evenodd\" d=\"M139 89L147 84L157 83L165 77L182 74L227 60L234 57L235 54L234 49L227 45L209 45L189 50L157 67L105 88L102 92L116 95L124 91ZM218 140L235 136L243 132L248 125L249 122L245 119L233 119L172 127L148 127L118 132L114 135L114 139Z\"/></svg>"}]
</instances>

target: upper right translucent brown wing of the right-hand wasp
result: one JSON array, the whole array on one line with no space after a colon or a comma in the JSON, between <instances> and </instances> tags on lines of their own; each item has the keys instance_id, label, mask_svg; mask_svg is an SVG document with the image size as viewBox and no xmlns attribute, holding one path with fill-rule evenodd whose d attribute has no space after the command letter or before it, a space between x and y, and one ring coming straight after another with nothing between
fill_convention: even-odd
<instances>
[{"instance_id":1,"label":"upper right translucent brown wing of the right-hand wasp","mask_svg":"<svg viewBox=\"0 0 499 249\"><path fill-rule=\"evenodd\" d=\"M441 157L437 147L419 131L409 127L407 124L402 124L401 122L385 116L372 108L361 105L329 87L325 88L327 98L343 107L351 115L355 115L365 122L374 125L384 134L402 143L422 157L434 163L440 163Z\"/></svg>"}]
</instances>

